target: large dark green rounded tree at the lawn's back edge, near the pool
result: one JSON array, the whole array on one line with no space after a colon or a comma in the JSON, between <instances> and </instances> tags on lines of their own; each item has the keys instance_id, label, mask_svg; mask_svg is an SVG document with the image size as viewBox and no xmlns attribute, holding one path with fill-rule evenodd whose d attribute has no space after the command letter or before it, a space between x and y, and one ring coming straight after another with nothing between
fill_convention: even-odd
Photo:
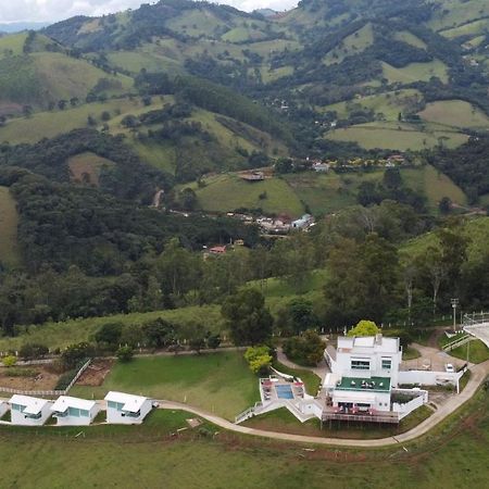
<instances>
[{"instance_id":1,"label":"large dark green rounded tree at the lawn's back edge, near the pool","mask_svg":"<svg viewBox=\"0 0 489 489\"><path fill-rule=\"evenodd\" d=\"M221 311L236 346L262 343L272 335L274 319L259 290L244 289L229 296Z\"/></svg>"}]
</instances>

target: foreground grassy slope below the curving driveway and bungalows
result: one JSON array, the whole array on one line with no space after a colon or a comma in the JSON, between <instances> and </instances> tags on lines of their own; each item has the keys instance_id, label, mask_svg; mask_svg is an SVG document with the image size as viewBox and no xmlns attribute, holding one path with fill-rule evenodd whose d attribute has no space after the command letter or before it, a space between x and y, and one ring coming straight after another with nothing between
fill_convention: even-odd
<instances>
[{"instance_id":1,"label":"foreground grassy slope below the curving driveway and bungalows","mask_svg":"<svg viewBox=\"0 0 489 489\"><path fill-rule=\"evenodd\" d=\"M479 391L469 406L428 437L381 450L339 450L264 441L204 424L214 438L186 430L181 411L154 412L141 426L79 428L0 427L2 485L23 488L142 487L188 489L296 489L392 487L410 480L421 489L484 488L489 478L489 396ZM12 447L15 446L15 451ZM308 446L306 448L313 448ZM76 463L74 462L76 461ZM33 463L35 462L35 463ZM375 471L367 469L375 466Z\"/></svg>"}]
</instances>

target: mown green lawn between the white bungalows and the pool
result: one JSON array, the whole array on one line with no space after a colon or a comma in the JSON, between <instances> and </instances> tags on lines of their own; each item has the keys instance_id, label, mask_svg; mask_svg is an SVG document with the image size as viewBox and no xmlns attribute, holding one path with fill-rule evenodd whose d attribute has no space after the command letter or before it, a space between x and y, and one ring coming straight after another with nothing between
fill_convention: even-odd
<instances>
[{"instance_id":1,"label":"mown green lawn between the white bungalows and the pool","mask_svg":"<svg viewBox=\"0 0 489 489\"><path fill-rule=\"evenodd\" d=\"M233 421L260 400L242 351L137 358L116 363L101 387L77 386L71 393L101 398L109 390L186 402Z\"/></svg>"}]
</instances>

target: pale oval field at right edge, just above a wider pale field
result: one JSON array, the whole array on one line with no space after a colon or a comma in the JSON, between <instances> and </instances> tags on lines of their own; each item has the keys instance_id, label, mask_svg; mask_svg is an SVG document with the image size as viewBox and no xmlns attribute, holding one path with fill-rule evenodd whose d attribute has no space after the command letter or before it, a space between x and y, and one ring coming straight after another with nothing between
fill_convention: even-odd
<instances>
[{"instance_id":1,"label":"pale oval field at right edge, just above a wider pale field","mask_svg":"<svg viewBox=\"0 0 489 489\"><path fill-rule=\"evenodd\" d=\"M443 100L428 103L418 114L423 120L452 127L481 128L489 126L489 117L463 100Z\"/></svg>"}]
</instances>

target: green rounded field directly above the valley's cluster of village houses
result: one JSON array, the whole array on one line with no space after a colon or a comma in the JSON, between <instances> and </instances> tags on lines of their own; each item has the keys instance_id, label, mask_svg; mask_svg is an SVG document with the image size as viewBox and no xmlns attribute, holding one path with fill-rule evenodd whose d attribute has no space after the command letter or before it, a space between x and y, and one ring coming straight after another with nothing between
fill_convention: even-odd
<instances>
[{"instance_id":1,"label":"green rounded field directly above the valley's cluster of village houses","mask_svg":"<svg viewBox=\"0 0 489 489\"><path fill-rule=\"evenodd\" d=\"M217 175L205 180L205 187L195 188L199 208L226 212L239 208L258 209L265 213L287 213L298 217L304 208L287 183L279 178L249 183L237 175ZM262 197L262 198L261 198Z\"/></svg>"}]
</instances>

